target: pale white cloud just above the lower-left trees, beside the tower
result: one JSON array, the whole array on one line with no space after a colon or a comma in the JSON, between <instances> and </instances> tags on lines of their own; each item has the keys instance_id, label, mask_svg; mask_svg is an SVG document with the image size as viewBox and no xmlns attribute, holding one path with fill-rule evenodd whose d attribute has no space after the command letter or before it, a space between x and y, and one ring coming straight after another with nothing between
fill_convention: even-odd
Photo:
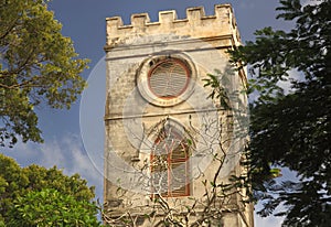
<instances>
[{"instance_id":1,"label":"pale white cloud just above the lower-left trees, beside the tower","mask_svg":"<svg viewBox=\"0 0 331 227\"><path fill-rule=\"evenodd\" d=\"M43 144L19 142L13 149L4 150L3 153L15 159L21 166L56 165L66 175L78 173L87 180L88 185L96 186L96 197L103 197L103 173L93 165L78 136L65 134L62 138L46 140Z\"/></svg>"}]
</instances>

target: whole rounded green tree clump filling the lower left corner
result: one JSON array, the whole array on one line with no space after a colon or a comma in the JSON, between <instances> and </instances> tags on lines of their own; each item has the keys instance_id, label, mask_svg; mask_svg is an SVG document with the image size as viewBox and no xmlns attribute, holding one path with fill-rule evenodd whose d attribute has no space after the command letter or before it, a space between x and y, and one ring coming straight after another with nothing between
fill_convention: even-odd
<instances>
[{"instance_id":1,"label":"whole rounded green tree clump filling the lower left corner","mask_svg":"<svg viewBox=\"0 0 331 227\"><path fill-rule=\"evenodd\" d=\"M94 187L55 166L20 167L0 154L0 226L99 226Z\"/></svg>"}]
</instances>

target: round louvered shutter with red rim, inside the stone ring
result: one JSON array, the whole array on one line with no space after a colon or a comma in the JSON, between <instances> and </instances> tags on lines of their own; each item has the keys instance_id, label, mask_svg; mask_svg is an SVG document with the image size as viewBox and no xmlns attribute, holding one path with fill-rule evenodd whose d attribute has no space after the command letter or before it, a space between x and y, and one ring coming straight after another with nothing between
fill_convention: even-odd
<instances>
[{"instance_id":1,"label":"round louvered shutter with red rim, inside the stone ring","mask_svg":"<svg viewBox=\"0 0 331 227\"><path fill-rule=\"evenodd\" d=\"M159 98L170 99L183 94L190 80L190 71L179 60L164 60L149 72L148 84Z\"/></svg>"}]
</instances>

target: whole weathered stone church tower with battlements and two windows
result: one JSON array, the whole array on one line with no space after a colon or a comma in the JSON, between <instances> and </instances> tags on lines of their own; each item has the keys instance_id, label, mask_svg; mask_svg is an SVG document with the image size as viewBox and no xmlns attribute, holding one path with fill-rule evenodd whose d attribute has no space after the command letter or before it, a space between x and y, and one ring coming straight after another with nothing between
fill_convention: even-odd
<instances>
[{"instance_id":1,"label":"whole weathered stone church tower with battlements and two windows","mask_svg":"<svg viewBox=\"0 0 331 227\"><path fill-rule=\"evenodd\" d=\"M246 74L226 52L239 42L229 4L107 18L105 223L253 226L231 181L245 174Z\"/></svg>"}]
</instances>

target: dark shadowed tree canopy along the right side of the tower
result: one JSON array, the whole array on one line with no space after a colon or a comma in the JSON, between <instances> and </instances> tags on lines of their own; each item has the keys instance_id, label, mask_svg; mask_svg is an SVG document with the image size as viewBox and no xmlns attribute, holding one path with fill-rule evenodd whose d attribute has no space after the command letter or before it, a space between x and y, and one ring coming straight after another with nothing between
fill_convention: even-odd
<instances>
[{"instance_id":1,"label":"dark shadowed tree canopy along the right side of the tower","mask_svg":"<svg viewBox=\"0 0 331 227\"><path fill-rule=\"evenodd\" d=\"M279 19L293 21L289 31L256 32L256 41L232 52L249 65L252 105L252 177L265 202L261 215L282 204L284 226L330 226L331 223L331 1L302 7L281 0ZM298 77L290 77L297 69ZM279 82L290 83L288 94ZM297 182L269 180L271 166L289 167Z\"/></svg>"}]
</instances>

